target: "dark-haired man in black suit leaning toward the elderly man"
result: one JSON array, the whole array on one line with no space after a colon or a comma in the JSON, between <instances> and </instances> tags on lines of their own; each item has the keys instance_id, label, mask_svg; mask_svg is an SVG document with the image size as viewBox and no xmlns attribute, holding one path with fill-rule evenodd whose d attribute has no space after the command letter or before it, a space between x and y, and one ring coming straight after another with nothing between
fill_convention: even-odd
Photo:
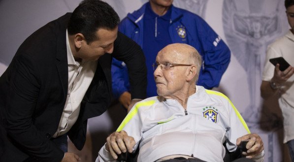
<instances>
[{"instance_id":1,"label":"dark-haired man in black suit leaning toward the elderly man","mask_svg":"<svg viewBox=\"0 0 294 162\"><path fill-rule=\"evenodd\" d=\"M112 57L128 65L132 102L145 98L144 55L118 23L110 5L84 0L22 43L0 77L0 162L80 161L67 135L81 150L87 119L109 106Z\"/></svg>"}]
</instances>

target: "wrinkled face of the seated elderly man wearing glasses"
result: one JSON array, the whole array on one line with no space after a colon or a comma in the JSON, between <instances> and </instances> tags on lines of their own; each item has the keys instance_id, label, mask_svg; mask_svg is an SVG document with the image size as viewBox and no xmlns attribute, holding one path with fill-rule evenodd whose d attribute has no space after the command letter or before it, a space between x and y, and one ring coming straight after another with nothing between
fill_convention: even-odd
<instances>
[{"instance_id":1,"label":"wrinkled face of the seated elderly man wearing glasses","mask_svg":"<svg viewBox=\"0 0 294 162\"><path fill-rule=\"evenodd\" d=\"M185 56L177 53L174 48L165 47L157 57L156 63L169 62L174 64L186 64ZM169 70L163 70L159 65L154 71L157 93L165 98L174 98L181 94L186 83L185 72L189 66L173 66Z\"/></svg>"}]
</instances>

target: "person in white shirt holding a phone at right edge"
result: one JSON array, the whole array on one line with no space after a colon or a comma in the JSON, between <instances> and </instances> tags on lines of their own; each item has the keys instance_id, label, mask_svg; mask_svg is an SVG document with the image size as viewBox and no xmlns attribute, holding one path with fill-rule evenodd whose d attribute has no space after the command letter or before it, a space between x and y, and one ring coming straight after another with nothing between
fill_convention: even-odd
<instances>
[{"instance_id":1,"label":"person in white shirt holding a phone at right edge","mask_svg":"<svg viewBox=\"0 0 294 162\"><path fill-rule=\"evenodd\" d=\"M294 162L294 0L285 0L285 7L291 29L267 48L262 73L261 97L267 99L274 95L278 96L284 118L283 142L287 143L292 162ZM280 68L284 66L283 62L272 65L272 59L278 57L283 57L290 66L284 70Z\"/></svg>"}]
</instances>

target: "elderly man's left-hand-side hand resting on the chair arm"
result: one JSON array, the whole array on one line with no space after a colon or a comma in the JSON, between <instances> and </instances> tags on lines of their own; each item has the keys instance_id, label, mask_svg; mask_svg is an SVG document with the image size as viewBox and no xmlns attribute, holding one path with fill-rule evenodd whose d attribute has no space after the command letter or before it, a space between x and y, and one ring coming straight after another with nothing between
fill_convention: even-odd
<instances>
[{"instance_id":1,"label":"elderly man's left-hand-side hand resting on the chair arm","mask_svg":"<svg viewBox=\"0 0 294 162\"><path fill-rule=\"evenodd\" d=\"M127 150L131 153L132 148L135 145L133 137L129 136L124 130L119 132L113 132L106 138L105 149L110 152L114 159L117 159L117 155Z\"/></svg>"}]
</instances>

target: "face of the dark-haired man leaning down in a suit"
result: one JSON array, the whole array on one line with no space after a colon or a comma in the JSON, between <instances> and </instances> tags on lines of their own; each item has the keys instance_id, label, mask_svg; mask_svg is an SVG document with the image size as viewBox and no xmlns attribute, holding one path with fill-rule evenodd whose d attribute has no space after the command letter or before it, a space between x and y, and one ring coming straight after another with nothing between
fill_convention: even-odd
<instances>
[{"instance_id":1,"label":"face of the dark-haired man leaning down in a suit","mask_svg":"<svg viewBox=\"0 0 294 162\"><path fill-rule=\"evenodd\" d=\"M89 44L83 40L78 57L83 60L96 61L105 53L112 53L113 42L117 37L117 31L118 28L112 31L103 28L98 29L96 32L98 40L94 40Z\"/></svg>"}]
</instances>

